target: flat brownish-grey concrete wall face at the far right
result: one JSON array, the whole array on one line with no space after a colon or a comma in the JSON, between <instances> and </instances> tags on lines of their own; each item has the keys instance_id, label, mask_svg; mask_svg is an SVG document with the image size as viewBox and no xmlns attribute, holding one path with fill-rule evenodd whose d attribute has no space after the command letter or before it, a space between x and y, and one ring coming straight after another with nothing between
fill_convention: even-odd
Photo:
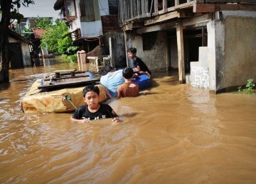
<instances>
[{"instance_id":1,"label":"flat brownish-grey concrete wall face at the far right","mask_svg":"<svg viewBox=\"0 0 256 184\"><path fill-rule=\"evenodd\" d=\"M220 86L241 86L256 82L256 18L225 18L225 78Z\"/></svg>"}]
</instances>

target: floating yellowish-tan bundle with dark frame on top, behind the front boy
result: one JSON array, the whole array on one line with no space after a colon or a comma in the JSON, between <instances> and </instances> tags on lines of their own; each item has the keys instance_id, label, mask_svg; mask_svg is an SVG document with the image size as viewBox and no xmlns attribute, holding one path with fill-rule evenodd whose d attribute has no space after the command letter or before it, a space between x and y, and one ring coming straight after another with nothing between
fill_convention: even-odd
<instances>
[{"instance_id":1,"label":"floating yellowish-tan bundle with dark frame on top, behind the front boy","mask_svg":"<svg viewBox=\"0 0 256 184\"><path fill-rule=\"evenodd\" d=\"M71 112L75 110L75 107L85 105L82 89L89 84L95 84L100 88L100 102L107 99L104 86L97 84L97 81L100 79L91 79L92 74L88 75L87 72L86 74L85 72L79 75L75 74L75 76L62 75L58 79L55 79L55 76L37 79L28 93L26 93L26 96L21 100L23 112Z\"/></svg>"}]
</instances>

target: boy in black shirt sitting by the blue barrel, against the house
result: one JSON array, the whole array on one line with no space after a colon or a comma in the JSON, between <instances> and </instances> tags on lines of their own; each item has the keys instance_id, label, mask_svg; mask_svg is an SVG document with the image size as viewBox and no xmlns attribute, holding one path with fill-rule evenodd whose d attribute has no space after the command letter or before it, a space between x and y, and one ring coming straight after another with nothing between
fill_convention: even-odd
<instances>
[{"instance_id":1,"label":"boy in black shirt sitting by the blue barrel, against the house","mask_svg":"<svg viewBox=\"0 0 256 184\"><path fill-rule=\"evenodd\" d=\"M148 67L146 67L146 64L142 62L142 59L139 59L139 57L136 56L137 49L134 47L130 47L127 50L128 57L130 59L134 60L134 71L137 71L139 74L146 74L147 76L151 76L151 71Z\"/></svg>"}]
</instances>

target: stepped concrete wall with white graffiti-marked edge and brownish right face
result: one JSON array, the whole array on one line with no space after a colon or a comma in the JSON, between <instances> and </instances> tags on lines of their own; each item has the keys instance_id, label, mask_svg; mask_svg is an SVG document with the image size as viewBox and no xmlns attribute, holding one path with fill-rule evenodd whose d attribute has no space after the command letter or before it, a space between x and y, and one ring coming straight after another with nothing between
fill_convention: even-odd
<instances>
[{"instance_id":1,"label":"stepped concrete wall with white graffiti-marked edge and brownish right face","mask_svg":"<svg viewBox=\"0 0 256 184\"><path fill-rule=\"evenodd\" d=\"M256 81L256 13L218 12L207 30L208 47L200 47L199 61L191 62L192 86L218 93Z\"/></svg>"}]
</instances>

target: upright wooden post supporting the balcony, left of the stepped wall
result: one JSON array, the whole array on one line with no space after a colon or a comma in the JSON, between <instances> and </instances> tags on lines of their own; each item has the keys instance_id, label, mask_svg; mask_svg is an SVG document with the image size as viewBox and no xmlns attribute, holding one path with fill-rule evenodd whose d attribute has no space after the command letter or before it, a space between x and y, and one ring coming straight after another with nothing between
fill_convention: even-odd
<instances>
[{"instance_id":1,"label":"upright wooden post supporting the balcony, left of the stepped wall","mask_svg":"<svg viewBox=\"0 0 256 184\"><path fill-rule=\"evenodd\" d=\"M180 84L185 84L185 64L184 64L184 47L183 47L183 28L181 23L176 26L177 46L178 46L178 80Z\"/></svg>"}]
</instances>

